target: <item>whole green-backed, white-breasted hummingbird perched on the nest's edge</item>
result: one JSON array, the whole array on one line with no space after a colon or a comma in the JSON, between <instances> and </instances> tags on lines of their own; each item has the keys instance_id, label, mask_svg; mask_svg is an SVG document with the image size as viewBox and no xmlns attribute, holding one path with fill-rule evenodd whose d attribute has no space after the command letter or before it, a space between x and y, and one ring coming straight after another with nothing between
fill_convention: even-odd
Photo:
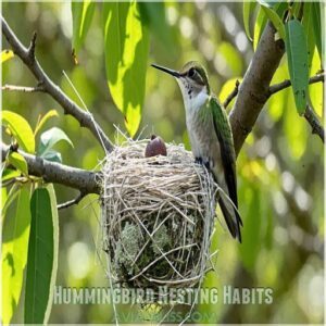
<instances>
[{"instance_id":1,"label":"whole green-backed, white-breasted hummingbird perched on the nest's edge","mask_svg":"<svg viewBox=\"0 0 326 326\"><path fill-rule=\"evenodd\" d=\"M238 213L236 153L230 124L225 109L211 92L205 68L190 61L180 71L152 64L175 77L184 98L186 124L191 151L222 188L218 204L234 238L241 242L242 226Z\"/></svg>"}]
</instances>

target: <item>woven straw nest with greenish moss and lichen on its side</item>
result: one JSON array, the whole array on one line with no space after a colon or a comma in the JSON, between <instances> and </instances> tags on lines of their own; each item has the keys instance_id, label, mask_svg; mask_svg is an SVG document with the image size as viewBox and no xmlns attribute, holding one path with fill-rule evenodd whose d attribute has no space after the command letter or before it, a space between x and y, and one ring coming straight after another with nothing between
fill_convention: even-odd
<instances>
[{"instance_id":1,"label":"woven straw nest with greenish moss and lichen on its side","mask_svg":"<svg viewBox=\"0 0 326 326\"><path fill-rule=\"evenodd\" d=\"M150 288L160 302L160 287L199 288L210 268L216 185L183 146L146 158L148 141L128 140L106 156L102 246L114 284Z\"/></svg>"}]
</instances>

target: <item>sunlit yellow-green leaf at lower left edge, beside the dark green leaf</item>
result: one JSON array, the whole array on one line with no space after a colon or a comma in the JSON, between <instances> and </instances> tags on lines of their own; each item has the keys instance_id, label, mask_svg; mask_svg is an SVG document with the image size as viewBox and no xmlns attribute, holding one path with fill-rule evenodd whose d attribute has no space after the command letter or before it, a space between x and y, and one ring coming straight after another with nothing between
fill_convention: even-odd
<instances>
[{"instance_id":1,"label":"sunlit yellow-green leaf at lower left edge, beside the dark green leaf","mask_svg":"<svg viewBox=\"0 0 326 326\"><path fill-rule=\"evenodd\" d=\"M17 192L17 201L11 206L10 218L4 220L2 231L2 323L9 324L17 308L27 262L29 237L30 188L23 186Z\"/></svg>"}]
</instances>

